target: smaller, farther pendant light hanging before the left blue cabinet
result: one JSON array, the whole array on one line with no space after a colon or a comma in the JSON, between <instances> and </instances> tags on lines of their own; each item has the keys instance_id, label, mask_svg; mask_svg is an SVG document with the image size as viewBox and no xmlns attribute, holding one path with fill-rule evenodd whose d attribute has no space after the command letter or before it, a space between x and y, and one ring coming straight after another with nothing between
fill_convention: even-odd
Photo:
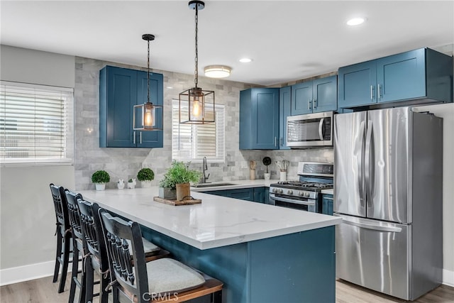
<instances>
[{"instance_id":1,"label":"smaller, farther pendant light hanging before the left blue cabinet","mask_svg":"<svg viewBox=\"0 0 454 303\"><path fill-rule=\"evenodd\" d=\"M155 40L155 35L145 33L142 39L148 41L147 101L134 106L133 130L162 131L162 105L155 105L150 101L150 41Z\"/></svg>"}]
</instances>

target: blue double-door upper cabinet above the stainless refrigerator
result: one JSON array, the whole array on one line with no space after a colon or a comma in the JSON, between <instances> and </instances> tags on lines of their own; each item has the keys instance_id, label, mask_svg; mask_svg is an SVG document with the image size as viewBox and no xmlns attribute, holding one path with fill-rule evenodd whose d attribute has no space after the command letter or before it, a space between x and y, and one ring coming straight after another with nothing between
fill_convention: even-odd
<instances>
[{"instance_id":1,"label":"blue double-door upper cabinet above the stainless refrigerator","mask_svg":"<svg viewBox=\"0 0 454 303\"><path fill-rule=\"evenodd\" d=\"M338 106L431 99L452 102L453 57L429 48L339 69Z\"/></svg>"}]
</instances>

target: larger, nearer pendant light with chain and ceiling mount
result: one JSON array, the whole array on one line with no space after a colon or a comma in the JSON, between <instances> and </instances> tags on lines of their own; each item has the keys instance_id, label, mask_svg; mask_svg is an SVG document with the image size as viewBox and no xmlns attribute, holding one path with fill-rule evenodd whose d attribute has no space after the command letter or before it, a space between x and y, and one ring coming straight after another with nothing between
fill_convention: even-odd
<instances>
[{"instance_id":1,"label":"larger, nearer pendant light with chain and ceiling mount","mask_svg":"<svg viewBox=\"0 0 454 303\"><path fill-rule=\"evenodd\" d=\"M199 50L198 50L198 23L199 10L204 9L203 1L189 1L189 9L194 9L196 23L196 57L195 57L195 86L179 94L179 123L204 124L214 122L214 91L206 91L197 87L199 80ZM188 108L182 106L188 104Z\"/></svg>"}]
</instances>

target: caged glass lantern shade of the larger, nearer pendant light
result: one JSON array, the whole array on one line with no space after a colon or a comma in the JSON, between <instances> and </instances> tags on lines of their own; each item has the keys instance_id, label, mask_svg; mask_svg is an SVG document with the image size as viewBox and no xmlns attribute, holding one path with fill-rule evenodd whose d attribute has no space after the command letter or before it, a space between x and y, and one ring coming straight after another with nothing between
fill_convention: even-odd
<instances>
[{"instance_id":1,"label":"caged glass lantern shade of the larger, nearer pendant light","mask_svg":"<svg viewBox=\"0 0 454 303\"><path fill-rule=\"evenodd\" d=\"M214 122L214 91L192 87L179 94L179 123Z\"/></svg>"}]
</instances>

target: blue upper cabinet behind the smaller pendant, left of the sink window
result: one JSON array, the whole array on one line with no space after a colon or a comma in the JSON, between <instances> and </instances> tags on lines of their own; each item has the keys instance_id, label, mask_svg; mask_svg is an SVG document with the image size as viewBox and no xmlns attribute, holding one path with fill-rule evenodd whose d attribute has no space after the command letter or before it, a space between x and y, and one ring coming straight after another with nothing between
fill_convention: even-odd
<instances>
[{"instance_id":1,"label":"blue upper cabinet behind the smaller pendant, left of the sink window","mask_svg":"<svg viewBox=\"0 0 454 303\"><path fill-rule=\"evenodd\" d=\"M99 146L162 148L162 131L133 131L133 106L147 101L147 73L106 66L99 72ZM162 105L163 77L150 73L150 101Z\"/></svg>"}]
</instances>

